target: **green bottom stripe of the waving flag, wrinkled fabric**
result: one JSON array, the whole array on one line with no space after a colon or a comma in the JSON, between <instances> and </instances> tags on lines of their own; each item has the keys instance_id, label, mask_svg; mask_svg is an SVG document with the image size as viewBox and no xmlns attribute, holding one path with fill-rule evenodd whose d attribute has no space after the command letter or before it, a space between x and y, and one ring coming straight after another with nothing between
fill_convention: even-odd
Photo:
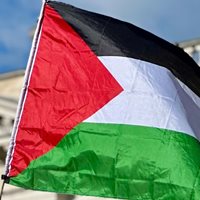
<instances>
[{"instance_id":1,"label":"green bottom stripe of the waving flag, wrinkled fabric","mask_svg":"<svg viewBox=\"0 0 200 200\"><path fill-rule=\"evenodd\" d=\"M152 127L82 123L10 183L68 194L197 200L199 169L200 144L189 135Z\"/></svg>"}]
</instances>

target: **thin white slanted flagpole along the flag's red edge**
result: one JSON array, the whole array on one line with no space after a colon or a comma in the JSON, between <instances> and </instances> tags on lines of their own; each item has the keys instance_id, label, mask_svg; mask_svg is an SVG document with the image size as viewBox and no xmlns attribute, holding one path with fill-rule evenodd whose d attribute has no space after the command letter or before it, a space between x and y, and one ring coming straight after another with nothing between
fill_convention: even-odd
<instances>
[{"instance_id":1,"label":"thin white slanted flagpole along the flag's red edge","mask_svg":"<svg viewBox=\"0 0 200 200\"><path fill-rule=\"evenodd\" d=\"M13 130L12 130L12 134L11 134L8 153L6 156L5 171L4 171L4 175L2 175L2 179L4 180L4 182L2 185L1 195L3 194L4 184L9 182L9 169L10 169L10 164L12 162L12 157L13 157L13 153L14 153L16 134L18 131L18 125L21 120L21 114L22 114L22 111L24 108L24 102L25 102L25 99L27 96L27 88L29 86L30 77L32 74L33 65L34 65L34 61L35 61L35 57L36 57L36 52L38 49L38 43L39 43L40 35L41 35L41 27L42 27L42 21L43 21L44 8L45 8L45 4L47 2L48 2L48 0L42 0L40 15L38 18L37 27L36 27L35 34L34 34L33 41L32 41L32 47L30 50L29 59L28 59L28 63L27 63L26 71L25 71L25 76L24 76L23 88L21 91L21 95L20 95L20 99L19 99L19 103L18 103L18 107L17 107L17 113L16 113L16 117L15 117L15 122L13 125Z\"/></svg>"}]
</instances>

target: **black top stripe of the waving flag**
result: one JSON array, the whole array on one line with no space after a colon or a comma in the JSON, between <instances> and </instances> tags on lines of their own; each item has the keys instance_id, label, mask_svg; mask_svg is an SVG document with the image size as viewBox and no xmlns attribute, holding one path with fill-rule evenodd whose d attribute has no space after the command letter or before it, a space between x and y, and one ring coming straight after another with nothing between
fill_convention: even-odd
<instances>
[{"instance_id":1,"label":"black top stripe of the waving flag","mask_svg":"<svg viewBox=\"0 0 200 200\"><path fill-rule=\"evenodd\" d=\"M50 1L97 56L131 57L169 69L200 96L200 68L179 47L141 29L108 16Z\"/></svg>"}]
</instances>

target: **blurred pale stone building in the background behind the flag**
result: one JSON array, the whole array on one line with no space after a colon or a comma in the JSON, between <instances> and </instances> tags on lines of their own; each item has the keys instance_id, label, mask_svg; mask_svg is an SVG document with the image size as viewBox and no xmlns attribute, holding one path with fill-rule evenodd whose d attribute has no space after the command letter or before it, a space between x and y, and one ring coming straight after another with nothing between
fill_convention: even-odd
<instances>
[{"instance_id":1,"label":"blurred pale stone building in the background behind the flag","mask_svg":"<svg viewBox=\"0 0 200 200\"><path fill-rule=\"evenodd\" d=\"M176 44L183 48L200 65L200 39ZM0 173L2 174L9 138L14 123L16 108L22 88L24 71L0 74ZM1 182L2 183L2 182ZM6 185L3 200L70 200L100 199L90 197L55 195L53 193L28 191ZM105 198L104 198L105 199Z\"/></svg>"}]
</instances>

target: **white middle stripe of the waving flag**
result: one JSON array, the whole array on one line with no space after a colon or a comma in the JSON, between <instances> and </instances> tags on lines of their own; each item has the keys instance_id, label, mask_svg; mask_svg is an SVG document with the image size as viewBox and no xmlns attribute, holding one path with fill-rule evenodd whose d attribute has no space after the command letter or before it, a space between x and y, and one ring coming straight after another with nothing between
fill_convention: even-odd
<instances>
[{"instance_id":1,"label":"white middle stripe of the waving flag","mask_svg":"<svg viewBox=\"0 0 200 200\"><path fill-rule=\"evenodd\" d=\"M126 57L99 59L124 91L85 122L158 127L200 138L200 98L168 69Z\"/></svg>"}]
</instances>

